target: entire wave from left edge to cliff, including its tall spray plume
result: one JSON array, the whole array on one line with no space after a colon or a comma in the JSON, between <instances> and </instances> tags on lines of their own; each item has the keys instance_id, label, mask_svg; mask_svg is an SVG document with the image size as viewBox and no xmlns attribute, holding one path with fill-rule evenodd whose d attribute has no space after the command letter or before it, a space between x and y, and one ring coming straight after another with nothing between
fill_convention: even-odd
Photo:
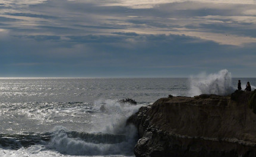
<instances>
[{"instance_id":1,"label":"entire wave from left edge to cliff, including its tall spray plume","mask_svg":"<svg viewBox=\"0 0 256 157\"><path fill-rule=\"evenodd\" d=\"M42 150L64 155L134 155L133 149L138 140L137 128L127 125L126 121L141 106L119 104L116 100L99 100L96 103L104 106L104 110L99 109L99 112L94 113L94 126L90 132L56 126L47 133L2 134L0 145L11 150L42 146Z\"/></svg>"}]
</instances>

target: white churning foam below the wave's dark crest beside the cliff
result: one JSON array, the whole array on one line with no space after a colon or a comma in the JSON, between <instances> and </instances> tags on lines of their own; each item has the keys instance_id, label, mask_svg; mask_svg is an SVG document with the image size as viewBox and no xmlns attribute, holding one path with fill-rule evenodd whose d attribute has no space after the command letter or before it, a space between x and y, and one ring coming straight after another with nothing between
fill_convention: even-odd
<instances>
[{"instance_id":1,"label":"white churning foam below the wave's dark crest beside the cliff","mask_svg":"<svg viewBox=\"0 0 256 157\"><path fill-rule=\"evenodd\" d=\"M130 130L135 130L132 126L129 127ZM134 145L134 136L128 136L121 143L92 143L81 138L72 138L65 129L59 128L55 131L48 148L66 155L132 155Z\"/></svg>"}]
</instances>

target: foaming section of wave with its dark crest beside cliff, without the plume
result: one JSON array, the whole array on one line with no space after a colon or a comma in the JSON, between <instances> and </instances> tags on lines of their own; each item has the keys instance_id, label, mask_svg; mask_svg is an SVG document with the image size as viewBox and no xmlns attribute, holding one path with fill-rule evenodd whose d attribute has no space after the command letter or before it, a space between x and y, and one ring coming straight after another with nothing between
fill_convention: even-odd
<instances>
[{"instance_id":1,"label":"foaming section of wave with its dark crest beside cliff, without the plume","mask_svg":"<svg viewBox=\"0 0 256 157\"><path fill-rule=\"evenodd\" d=\"M67 132L61 127L55 131L47 148L67 155L132 155L135 142L134 137L126 135Z\"/></svg>"}]
</instances>

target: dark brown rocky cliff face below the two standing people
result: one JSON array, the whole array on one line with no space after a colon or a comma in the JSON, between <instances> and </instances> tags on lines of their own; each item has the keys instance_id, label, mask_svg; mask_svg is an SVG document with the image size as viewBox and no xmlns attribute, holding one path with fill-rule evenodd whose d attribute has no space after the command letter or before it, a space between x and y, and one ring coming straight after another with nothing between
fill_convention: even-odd
<instances>
[{"instance_id":1,"label":"dark brown rocky cliff face below the two standing people","mask_svg":"<svg viewBox=\"0 0 256 157\"><path fill-rule=\"evenodd\" d=\"M250 92L169 97L128 119L138 128L138 156L256 156L256 115Z\"/></svg>"}]
</instances>

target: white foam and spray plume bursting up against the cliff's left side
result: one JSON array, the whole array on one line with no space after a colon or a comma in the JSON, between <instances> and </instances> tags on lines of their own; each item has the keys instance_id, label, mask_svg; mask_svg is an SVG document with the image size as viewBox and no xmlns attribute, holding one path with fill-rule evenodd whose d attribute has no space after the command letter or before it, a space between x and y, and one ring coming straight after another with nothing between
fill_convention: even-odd
<instances>
[{"instance_id":1,"label":"white foam and spray plume bursting up against the cliff's left side","mask_svg":"<svg viewBox=\"0 0 256 157\"><path fill-rule=\"evenodd\" d=\"M55 127L48 148L67 155L133 155L138 133L135 126L127 125L126 121L141 105L120 104L116 100L95 103L101 107L90 133ZM99 119L103 121L98 123Z\"/></svg>"}]
</instances>

